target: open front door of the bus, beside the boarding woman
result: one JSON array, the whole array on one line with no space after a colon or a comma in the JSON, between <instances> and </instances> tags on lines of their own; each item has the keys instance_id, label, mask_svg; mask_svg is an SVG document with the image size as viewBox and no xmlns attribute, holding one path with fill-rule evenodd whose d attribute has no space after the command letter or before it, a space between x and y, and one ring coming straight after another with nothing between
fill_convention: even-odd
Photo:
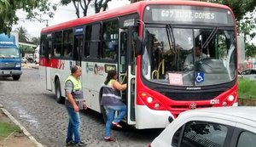
<instances>
[{"instance_id":1,"label":"open front door of the bus, beside the boarding woman","mask_svg":"<svg viewBox=\"0 0 256 147\"><path fill-rule=\"evenodd\" d=\"M135 125L135 56L131 32L131 28L119 29L119 82L127 83L122 99L127 105L127 124Z\"/></svg>"}]
</instances>

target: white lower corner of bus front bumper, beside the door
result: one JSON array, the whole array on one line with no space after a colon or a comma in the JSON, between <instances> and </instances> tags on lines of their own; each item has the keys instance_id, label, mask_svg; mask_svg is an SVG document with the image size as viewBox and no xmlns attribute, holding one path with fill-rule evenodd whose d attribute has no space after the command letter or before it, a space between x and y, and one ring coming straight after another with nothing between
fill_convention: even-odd
<instances>
[{"instance_id":1,"label":"white lower corner of bus front bumper, beside the door","mask_svg":"<svg viewBox=\"0 0 256 147\"><path fill-rule=\"evenodd\" d=\"M136 106L136 128L164 128L174 116L168 110L151 110L146 105Z\"/></svg>"}]
</instances>

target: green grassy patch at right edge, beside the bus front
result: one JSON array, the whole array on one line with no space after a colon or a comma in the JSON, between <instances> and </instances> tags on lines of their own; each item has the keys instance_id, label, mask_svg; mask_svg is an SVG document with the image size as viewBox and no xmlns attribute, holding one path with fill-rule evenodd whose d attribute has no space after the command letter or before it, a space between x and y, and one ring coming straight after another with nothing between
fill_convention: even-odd
<instances>
[{"instance_id":1,"label":"green grassy patch at right edge, beside the bus front","mask_svg":"<svg viewBox=\"0 0 256 147\"><path fill-rule=\"evenodd\" d=\"M256 99L256 81L245 78L238 79L238 97L245 99Z\"/></svg>"}]
</instances>

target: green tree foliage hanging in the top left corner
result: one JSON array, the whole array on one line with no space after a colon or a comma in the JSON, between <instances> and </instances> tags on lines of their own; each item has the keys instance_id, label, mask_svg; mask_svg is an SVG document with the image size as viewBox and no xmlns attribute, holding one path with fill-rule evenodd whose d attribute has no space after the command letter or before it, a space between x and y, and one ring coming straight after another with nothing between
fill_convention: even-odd
<instances>
[{"instance_id":1,"label":"green tree foliage hanging in the top left corner","mask_svg":"<svg viewBox=\"0 0 256 147\"><path fill-rule=\"evenodd\" d=\"M55 5L49 3L48 0L1 0L0 33L4 32L9 34L12 30L12 25L17 24L19 20L15 14L17 9L25 11L27 13L27 19L38 20L38 11L43 14L48 14L49 17L53 17L54 13L52 10L55 10L55 8Z\"/></svg>"}]
</instances>

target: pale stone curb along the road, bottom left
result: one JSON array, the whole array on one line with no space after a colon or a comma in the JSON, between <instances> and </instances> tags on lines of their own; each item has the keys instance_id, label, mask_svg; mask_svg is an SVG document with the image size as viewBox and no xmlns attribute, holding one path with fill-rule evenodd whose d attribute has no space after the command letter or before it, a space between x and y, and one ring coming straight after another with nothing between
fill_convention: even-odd
<instances>
[{"instance_id":1,"label":"pale stone curb along the road, bottom left","mask_svg":"<svg viewBox=\"0 0 256 147\"><path fill-rule=\"evenodd\" d=\"M9 113L9 111L5 110L5 109L3 108L3 105L1 105L1 104L0 104L0 109L3 110L3 113L4 113L6 116L8 116L9 119L10 119L12 122L15 122L15 124L16 124L18 127L20 127L20 129L21 129L21 130L23 131L23 133L28 137L28 139L30 139L30 140L32 141L32 143L36 144L37 147L44 147L44 145L38 143L38 141L32 136L32 134L29 133L28 131L26 131L26 128L23 127L23 126L20 124L20 122L18 122L18 121L15 119L15 117L12 116L12 115Z\"/></svg>"}]
</instances>

